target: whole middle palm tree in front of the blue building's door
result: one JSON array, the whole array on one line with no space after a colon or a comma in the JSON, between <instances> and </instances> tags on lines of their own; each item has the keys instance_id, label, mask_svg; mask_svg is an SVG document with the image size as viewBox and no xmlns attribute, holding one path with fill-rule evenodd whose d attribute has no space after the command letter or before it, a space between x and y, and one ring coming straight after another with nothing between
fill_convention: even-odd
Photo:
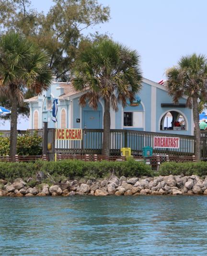
<instances>
[{"instance_id":1,"label":"whole middle palm tree in front of the blue building's door","mask_svg":"<svg viewBox=\"0 0 207 256\"><path fill-rule=\"evenodd\" d=\"M97 109L104 99L104 135L102 154L110 153L110 107L118 110L127 99L133 101L141 88L140 56L122 44L109 39L94 42L81 51L73 68L72 84L76 91L86 91L80 98L81 106Z\"/></svg>"}]
</instances>

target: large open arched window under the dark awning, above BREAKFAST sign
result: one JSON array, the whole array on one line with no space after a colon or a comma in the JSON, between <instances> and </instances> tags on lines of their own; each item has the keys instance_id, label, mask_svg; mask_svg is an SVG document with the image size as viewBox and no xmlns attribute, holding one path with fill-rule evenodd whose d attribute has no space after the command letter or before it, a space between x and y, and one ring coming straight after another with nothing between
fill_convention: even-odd
<instances>
[{"instance_id":1,"label":"large open arched window under the dark awning, above BREAKFAST sign","mask_svg":"<svg viewBox=\"0 0 207 256\"><path fill-rule=\"evenodd\" d=\"M186 130L187 122L179 111L170 110L161 117L160 130Z\"/></svg>"}]
</instances>

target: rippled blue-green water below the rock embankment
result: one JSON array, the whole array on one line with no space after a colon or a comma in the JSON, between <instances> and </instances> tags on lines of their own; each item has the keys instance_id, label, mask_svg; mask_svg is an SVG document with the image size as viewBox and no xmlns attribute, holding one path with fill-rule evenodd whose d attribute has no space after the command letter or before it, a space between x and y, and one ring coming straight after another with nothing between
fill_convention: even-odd
<instances>
[{"instance_id":1,"label":"rippled blue-green water below the rock embankment","mask_svg":"<svg viewBox=\"0 0 207 256\"><path fill-rule=\"evenodd\" d=\"M207 255L207 197L0 197L0 255Z\"/></svg>"}]
</instances>

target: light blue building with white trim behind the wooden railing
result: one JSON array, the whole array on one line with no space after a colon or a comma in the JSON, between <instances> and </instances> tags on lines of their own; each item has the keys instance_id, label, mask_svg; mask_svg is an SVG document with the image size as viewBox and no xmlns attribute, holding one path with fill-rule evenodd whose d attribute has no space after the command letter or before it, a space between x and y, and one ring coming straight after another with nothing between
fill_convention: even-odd
<instances>
[{"instance_id":1,"label":"light blue building with white trim behind the wooden railing","mask_svg":"<svg viewBox=\"0 0 207 256\"><path fill-rule=\"evenodd\" d=\"M79 98L82 94L75 92L70 83L54 81L42 95L27 99L30 129L42 128L43 122L48 122L49 128L102 129L104 101L100 100L97 110L88 105L81 108ZM56 123L51 120L55 98L58 99ZM138 104L128 104L126 108L119 105L117 112L111 109L111 129L193 135L193 112L185 107L185 98L174 104L164 85L146 78L143 78L142 89L136 98Z\"/></svg>"}]
</instances>

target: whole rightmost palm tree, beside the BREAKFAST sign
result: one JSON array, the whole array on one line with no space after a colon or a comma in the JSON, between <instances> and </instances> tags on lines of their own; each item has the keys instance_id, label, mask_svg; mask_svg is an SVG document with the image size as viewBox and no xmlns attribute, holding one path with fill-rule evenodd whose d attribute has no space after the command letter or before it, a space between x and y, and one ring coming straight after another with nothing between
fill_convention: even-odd
<instances>
[{"instance_id":1,"label":"whole rightmost palm tree, beside the BREAKFAST sign","mask_svg":"<svg viewBox=\"0 0 207 256\"><path fill-rule=\"evenodd\" d=\"M177 66L166 71L167 87L173 101L186 96L186 106L193 108L196 132L196 156L201 159L198 99L207 100L207 58L204 55L183 56Z\"/></svg>"}]
</instances>

